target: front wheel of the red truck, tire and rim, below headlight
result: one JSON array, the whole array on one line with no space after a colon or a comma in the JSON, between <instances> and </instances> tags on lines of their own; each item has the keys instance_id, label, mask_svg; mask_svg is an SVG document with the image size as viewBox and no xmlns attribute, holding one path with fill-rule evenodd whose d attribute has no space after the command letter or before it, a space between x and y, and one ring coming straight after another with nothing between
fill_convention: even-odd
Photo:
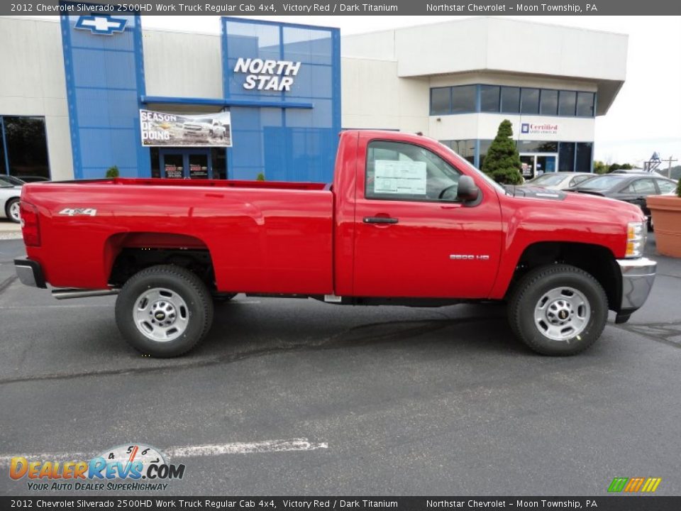
<instances>
[{"instance_id":1,"label":"front wheel of the red truck, tire and rim, below headlight","mask_svg":"<svg viewBox=\"0 0 681 511\"><path fill-rule=\"evenodd\" d=\"M569 356L589 348L608 319L600 283L580 268L550 265L525 275L509 300L514 334L542 355Z\"/></svg>"}]
</instances>

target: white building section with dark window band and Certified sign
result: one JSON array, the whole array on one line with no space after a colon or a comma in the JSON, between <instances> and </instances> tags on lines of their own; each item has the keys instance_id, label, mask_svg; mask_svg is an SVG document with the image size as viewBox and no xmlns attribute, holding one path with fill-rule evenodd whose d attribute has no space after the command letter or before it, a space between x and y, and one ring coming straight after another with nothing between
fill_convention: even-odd
<instances>
[{"instance_id":1,"label":"white building section with dark window band and Certified sign","mask_svg":"<svg viewBox=\"0 0 681 511\"><path fill-rule=\"evenodd\" d=\"M348 35L343 126L420 131L482 167L509 119L526 177L590 172L626 52L626 35L505 18Z\"/></svg>"}]
</instances>

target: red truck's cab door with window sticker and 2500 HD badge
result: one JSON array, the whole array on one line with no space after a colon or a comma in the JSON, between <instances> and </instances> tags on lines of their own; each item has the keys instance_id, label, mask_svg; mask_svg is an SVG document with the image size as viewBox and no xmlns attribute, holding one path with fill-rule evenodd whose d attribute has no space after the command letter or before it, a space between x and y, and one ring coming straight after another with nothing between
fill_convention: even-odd
<instances>
[{"instance_id":1,"label":"red truck's cab door with window sticker and 2500 HD badge","mask_svg":"<svg viewBox=\"0 0 681 511\"><path fill-rule=\"evenodd\" d=\"M502 241L497 194L459 202L462 173L432 150L360 136L355 192L358 297L482 298ZM480 177L474 177L480 185Z\"/></svg>"}]
</instances>

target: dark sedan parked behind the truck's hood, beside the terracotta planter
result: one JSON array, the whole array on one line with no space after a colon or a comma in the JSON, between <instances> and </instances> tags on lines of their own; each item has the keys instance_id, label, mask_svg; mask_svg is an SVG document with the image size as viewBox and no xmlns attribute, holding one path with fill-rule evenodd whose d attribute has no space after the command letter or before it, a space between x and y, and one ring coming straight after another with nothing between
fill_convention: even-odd
<instances>
[{"instance_id":1,"label":"dark sedan parked behind the truck's hood, beside the terracotta planter","mask_svg":"<svg viewBox=\"0 0 681 511\"><path fill-rule=\"evenodd\" d=\"M606 174L586 180L581 185L568 188L568 192L600 195L636 204L648 218L650 227L650 209L646 204L648 195L660 195L676 189L677 182L660 175L650 173Z\"/></svg>"}]
</instances>

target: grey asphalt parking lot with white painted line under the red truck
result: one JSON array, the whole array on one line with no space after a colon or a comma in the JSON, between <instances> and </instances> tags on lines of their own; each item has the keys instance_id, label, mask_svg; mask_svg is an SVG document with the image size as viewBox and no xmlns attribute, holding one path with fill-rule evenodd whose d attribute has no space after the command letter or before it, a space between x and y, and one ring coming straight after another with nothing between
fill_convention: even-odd
<instances>
[{"instance_id":1,"label":"grey asphalt parking lot with white painted line under the red truck","mask_svg":"<svg viewBox=\"0 0 681 511\"><path fill-rule=\"evenodd\" d=\"M528 351L501 307L243 295L188 356L143 358L113 298L24 287L22 254L0 241L1 494L29 493L11 456L137 442L186 465L174 495L606 495L614 477L681 493L681 260L654 236L646 306L572 358Z\"/></svg>"}]
</instances>

